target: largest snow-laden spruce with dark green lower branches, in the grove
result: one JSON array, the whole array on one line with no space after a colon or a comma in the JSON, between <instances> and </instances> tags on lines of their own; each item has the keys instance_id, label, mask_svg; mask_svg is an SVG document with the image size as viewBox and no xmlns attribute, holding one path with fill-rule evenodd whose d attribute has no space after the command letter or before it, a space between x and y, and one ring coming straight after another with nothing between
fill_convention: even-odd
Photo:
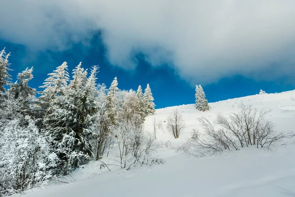
<instances>
[{"instance_id":1,"label":"largest snow-laden spruce with dark green lower branches, in the grove","mask_svg":"<svg viewBox=\"0 0 295 197\"><path fill-rule=\"evenodd\" d=\"M71 88L55 99L53 112L46 115L43 121L44 131L54 137L54 147L62 161L59 169L63 174L81 165L92 156L93 151L89 141L94 135L90 127L97 109L97 67L93 67L89 78L87 71L79 69L74 70Z\"/></svg>"}]
</instances>

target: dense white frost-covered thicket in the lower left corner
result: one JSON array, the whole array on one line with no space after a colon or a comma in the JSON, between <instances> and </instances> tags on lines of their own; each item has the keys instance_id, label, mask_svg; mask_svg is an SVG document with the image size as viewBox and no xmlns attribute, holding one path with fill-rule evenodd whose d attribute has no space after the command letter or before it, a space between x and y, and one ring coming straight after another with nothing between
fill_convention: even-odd
<instances>
[{"instance_id":1,"label":"dense white frost-covered thicket in the lower left corner","mask_svg":"<svg viewBox=\"0 0 295 197\"><path fill-rule=\"evenodd\" d=\"M0 192L4 194L28 190L52 177L52 168L59 162L51 139L21 114L21 96L5 97L0 103Z\"/></svg>"}]
</instances>

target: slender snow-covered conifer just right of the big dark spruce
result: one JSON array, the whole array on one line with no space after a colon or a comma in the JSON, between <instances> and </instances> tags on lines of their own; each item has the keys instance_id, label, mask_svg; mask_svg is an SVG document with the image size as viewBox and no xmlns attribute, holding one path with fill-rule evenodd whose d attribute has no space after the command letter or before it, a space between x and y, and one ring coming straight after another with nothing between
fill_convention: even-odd
<instances>
[{"instance_id":1,"label":"slender snow-covered conifer just right of the big dark spruce","mask_svg":"<svg viewBox=\"0 0 295 197\"><path fill-rule=\"evenodd\" d=\"M111 119L112 124L116 124L116 116L118 113L118 81L117 77L111 83L107 100L106 100L106 107L108 109L108 116Z\"/></svg>"}]
</instances>

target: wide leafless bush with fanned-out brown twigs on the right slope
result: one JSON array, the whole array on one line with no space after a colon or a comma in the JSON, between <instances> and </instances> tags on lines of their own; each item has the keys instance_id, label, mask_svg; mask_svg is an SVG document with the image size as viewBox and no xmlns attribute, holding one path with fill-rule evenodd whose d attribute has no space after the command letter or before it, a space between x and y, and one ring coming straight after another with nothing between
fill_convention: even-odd
<instances>
[{"instance_id":1,"label":"wide leafless bush with fanned-out brown twigs on the right slope","mask_svg":"<svg viewBox=\"0 0 295 197\"><path fill-rule=\"evenodd\" d=\"M266 147L282 142L283 139L293 138L293 133L277 133L274 124L267 121L269 111L252 109L251 105L239 105L240 111L228 115L218 115L213 125L207 118L200 118L199 122L204 133L192 133L189 143L198 148L202 154L224 150L239 150L240 147Z\"/></svg>"}]
</instances>

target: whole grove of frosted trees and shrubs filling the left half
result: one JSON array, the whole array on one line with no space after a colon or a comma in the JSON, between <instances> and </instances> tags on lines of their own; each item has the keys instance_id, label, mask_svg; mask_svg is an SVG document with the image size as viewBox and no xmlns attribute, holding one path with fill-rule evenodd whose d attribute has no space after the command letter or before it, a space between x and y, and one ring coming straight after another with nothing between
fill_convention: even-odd
<instances>
[{"instance_id":1,"label":"whole grove of frosted trees and shrubs filling the left half","mask_svg":"<svg viewBox=\"0 0 295 197\"><path fill-rule=\"evenodd\" d=\"M163 163L153 158L155 137L143 131L144 117L154 113L149 86L145 95L141 86L137 92L121 91L115 77L107 89L96 83L98 67L93 66L88 75L81 63L70 80L63 62L48 74L36 98L36 90L29 87L33 68L26 68L17 82L9 83L8 57L2 50L0 196L70 173L90 158L108 157L116 140L120 164L126 169Z\"/></svg>"}]
</instances>

